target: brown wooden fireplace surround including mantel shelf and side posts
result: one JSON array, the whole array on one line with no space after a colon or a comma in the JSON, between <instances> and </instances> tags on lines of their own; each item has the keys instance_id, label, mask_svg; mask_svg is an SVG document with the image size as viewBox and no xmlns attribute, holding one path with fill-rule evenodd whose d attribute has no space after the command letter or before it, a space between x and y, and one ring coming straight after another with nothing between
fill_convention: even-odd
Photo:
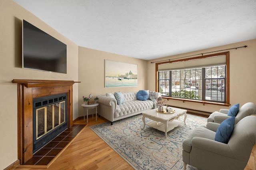
<instances>
[{"instance_id":1,"label":"brown wooden fireplace surround including mantel shelf and side posts","mask_svg":"<svg viewBox=\"0 0 256 170\"><path fill-rule=\"evenodd\" d=\"M68 127L73 125L73 84L68 80L13 79L18 84L18 159L24 164L33 156L33 98L67 93Z\"/></svg>"}]
</instances>

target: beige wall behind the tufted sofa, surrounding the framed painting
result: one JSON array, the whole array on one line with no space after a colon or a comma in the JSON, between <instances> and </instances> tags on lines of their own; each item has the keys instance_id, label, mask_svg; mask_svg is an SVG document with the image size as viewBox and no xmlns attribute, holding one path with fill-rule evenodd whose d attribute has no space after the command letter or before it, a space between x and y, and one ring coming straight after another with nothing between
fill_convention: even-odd
<instances>
[{"instance_id":1,"label":"beige wall behind the tufted sofa, surrounding the framed painting","mask_svg":"<svg viewBox=\"0 0 256 170\"><path fill-rule=\"evenodd\" d=\"M107 92L135 92L138 90L145 90L147 88L147 61L79 47L78 59L78 77L79 83L79 116L83 116L83 108L81 105L84 103L82 96L89 96L93 94L95 98L99 94L106 94ZM137 64L138 65L138 86L136 87L108 87L105 88L105 60L118 61L123 63ZM129 72L129 70L127 71ZM95 110L89 109L89 114Z\"/></svg>"}]
</instances>

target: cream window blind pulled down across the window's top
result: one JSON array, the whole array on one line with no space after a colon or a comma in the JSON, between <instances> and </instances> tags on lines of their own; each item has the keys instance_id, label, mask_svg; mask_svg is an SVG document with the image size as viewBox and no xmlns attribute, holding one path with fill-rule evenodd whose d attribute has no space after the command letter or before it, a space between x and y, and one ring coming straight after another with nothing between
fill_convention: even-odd
<instances>
[{"instance_id":1,"label":"cream window blind pulled down across the window's top","mask_svg":"<svg viewBox=\"0 0 256 170\"><path fill-rule=\"evenodd\" d=\"M185 68L203 68L207 66L226 65L226 55L194 59L174 63L159 64L158 71L179 70Z\"/></svg>"}]
</instances>

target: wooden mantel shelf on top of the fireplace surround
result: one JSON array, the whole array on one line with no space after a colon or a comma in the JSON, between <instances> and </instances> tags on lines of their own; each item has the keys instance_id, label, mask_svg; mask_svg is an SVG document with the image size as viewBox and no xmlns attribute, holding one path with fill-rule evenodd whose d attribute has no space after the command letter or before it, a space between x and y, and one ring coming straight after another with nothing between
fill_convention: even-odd
<instances>
[{"instance_id":1,"label":"wooden mantel shelf on top of the fireplace surround","mask_svg":"<svg viewBox=\"0 0 256 170\"><path fill-rule=\"evenodd\" d=\"M42 86L70 86L74 83L72 80L28 80L28 79L13 79L12 83L24 84L27 88L42 87Z\"/></svg>"}]
</instances>

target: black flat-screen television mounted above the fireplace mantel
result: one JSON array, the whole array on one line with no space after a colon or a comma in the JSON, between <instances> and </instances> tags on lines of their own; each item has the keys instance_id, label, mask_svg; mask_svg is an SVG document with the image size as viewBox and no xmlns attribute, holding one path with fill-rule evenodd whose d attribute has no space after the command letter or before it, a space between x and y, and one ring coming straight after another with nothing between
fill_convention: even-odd
<instances>
[{"instance_id":1,"label":"black flat-screen television mounted above the fireplace mantel","mask_svg":"<svg viewBox=\"0 0 256 170\"><path fill-rule=\"evenodd\" d=\"M22 25L22 67L66 74L66 44L25 20Z\"/></svg>"}]
</instances>

